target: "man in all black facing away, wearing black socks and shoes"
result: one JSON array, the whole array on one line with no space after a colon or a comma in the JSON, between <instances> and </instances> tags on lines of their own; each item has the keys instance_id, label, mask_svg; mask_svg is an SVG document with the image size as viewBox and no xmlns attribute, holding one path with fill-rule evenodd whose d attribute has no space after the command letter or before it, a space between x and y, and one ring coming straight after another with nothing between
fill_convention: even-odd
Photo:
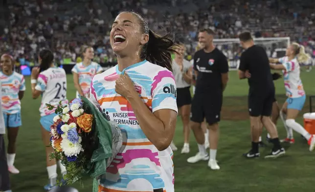
<instances>
[{"instance_id":1,"label":"man in all black facing away, wearing black socks and shoes","mask_svg":"<svg viewBox=\"0 0 315 192\"><path fill-rule=\"evenodd\" d=\"M263 123L273 144L270 154L265 158L275 158L285 154L285 150L280 145L276 126L270 119L275 93L269 59L264 48L254 45L249 32L241 33L239 39L242 47L246 49L240 58L239 77L249 77L248 111L252 137L251 150L243 155L247 158L260 156L259 136Z\"/></svg>"}]
</instances>

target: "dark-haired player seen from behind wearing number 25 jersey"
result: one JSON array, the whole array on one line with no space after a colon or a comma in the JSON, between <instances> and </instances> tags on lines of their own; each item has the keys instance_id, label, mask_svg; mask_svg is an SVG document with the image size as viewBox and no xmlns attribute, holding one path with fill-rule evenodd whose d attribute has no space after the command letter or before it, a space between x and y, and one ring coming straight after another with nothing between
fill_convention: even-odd
<instances>
[{"instance_id":1,"label":"dark-haired player seen from behind wearing number 25 jersey","mask_svg":"<svg viewBox=\"0 0 315 192\"><path fill-rule=\"evenodd\" d=\"M50 125L53 123L53 118L56 116L53 110L49 110L46 103L57 106L59 102L62 105L67 104L67 77L66 72L62 68L57 68L54 65L54 56L50 50L44 49L39 54L40 68L32 69L31 85L32 96L34 99L42 95L42 103L40 106L41 114L41 130L44 145L46 146L46 164L49 183L45 185L45 190L50 190L56 186L57 181L57 165L56 159L50 160L49 155L54 152L50 145ZM49 146L49 147L47 147ZM66 168L58 161L62 175L67 173Z\"/></svg>"}]
</instances>

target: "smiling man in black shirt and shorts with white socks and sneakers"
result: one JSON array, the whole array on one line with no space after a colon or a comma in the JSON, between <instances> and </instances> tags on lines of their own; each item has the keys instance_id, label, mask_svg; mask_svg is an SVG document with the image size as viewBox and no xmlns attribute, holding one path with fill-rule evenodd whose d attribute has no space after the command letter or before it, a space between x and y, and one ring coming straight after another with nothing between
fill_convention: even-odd
<instances>
[{"instance_id":1,"label":"smiling man in black shirt and shorts with white socks and sneakers","mask_svg":"<svg viewBox=\"0 0 315 192\"><path fill-rule=\"evenodd\" d=\"M198 143L199 153L187 159L188 163L207 161L209 155L204 146L204 134L201 123L205 118L209 130L211 169L220 169L216 161L219 140L219 121L223 100L223 91L228 80L228 62L225 55L213 45L215 33L211 29L202 29L198 41L203 49L194 56L196 90L191 103L191 129Z\"/></svg>"}]
</instances>

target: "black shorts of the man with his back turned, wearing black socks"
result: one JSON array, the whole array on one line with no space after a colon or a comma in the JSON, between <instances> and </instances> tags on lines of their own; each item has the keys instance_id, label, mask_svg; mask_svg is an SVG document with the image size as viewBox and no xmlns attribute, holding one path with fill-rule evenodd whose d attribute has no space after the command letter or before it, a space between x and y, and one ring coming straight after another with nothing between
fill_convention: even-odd
<instances>
[{"instance_id":1,"label":"black shorts of the man with his back turned, wearing black socks","mask_svg":"<svg viewBox=\"0 0 315 192\"><path fill-rule=\"evenodd\" d=\"M267 92L249 93L248 111L251 117L270 116L275 101L274 89Z\"/></svg>"}]
</instances>

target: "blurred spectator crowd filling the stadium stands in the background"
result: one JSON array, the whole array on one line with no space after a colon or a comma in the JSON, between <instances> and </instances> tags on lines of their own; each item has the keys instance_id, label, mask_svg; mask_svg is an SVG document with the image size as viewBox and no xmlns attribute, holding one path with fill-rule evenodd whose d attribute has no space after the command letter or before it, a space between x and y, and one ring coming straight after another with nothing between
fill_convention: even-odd
<instances>
[{"instance_id":1,"label":"blurred spectator crowd filling the stadium stands in the background","mask_svg":"<svg viewBox=\"0 0 315 192\"><path fill-rule=\"evenodd\" d=\"M38 51L50 48L57 62L65 58L76 62L82 59L80 47L90 45L97 53L95 62L115 62L109 45L111 22L119 11L134 10L148 18L153 30L171 31L183 41L189 60L201 27L215 30L215 38L237 38L244 29L256 37L289 36L315 56L314 1L205 2L206 6L201 0L11 0L0 22L0 52L24 65L33 64ZM234 55L238 51L235 48Z\"/></svg>"}]
</instances>

